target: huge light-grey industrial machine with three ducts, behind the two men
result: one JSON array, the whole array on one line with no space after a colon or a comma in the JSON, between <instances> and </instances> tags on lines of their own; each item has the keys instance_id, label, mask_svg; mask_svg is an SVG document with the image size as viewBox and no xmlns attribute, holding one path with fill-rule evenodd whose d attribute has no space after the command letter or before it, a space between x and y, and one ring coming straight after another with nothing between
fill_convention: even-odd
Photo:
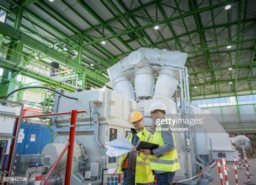
<instances>
[{"instance_id":1,"label":"huge light-grey industrial machine with three ducts, behind the two men","mask_svg":"<svg viewBox=\"0 0 256 185\"><path fill-rule=\"evenodd\" d=\"M190 105L188 74L184 67L186 59L187 54L179 51L140 48L108 69L110 82L107 86L113 90L104 87L67 94L77 100L56 95L54 112L71 109L88 112L77 116L71 184L101 184L108 176L103 173L104 169L117 168L120 159L106 155L105 143L129 134L132 111L143 112L144 125L149 130L152 119L147 109L153 101L166 104L166 115L177 115L183 119L209 115L209 112ZM208 129L211 126L219 127L219 130L213 133ZM201 132L196 132L193 126L184 127L188 130L173 132L181 166L174 180L184 180L198 174L213 159L226 157L232 160L234 155L238 157L227 133L215 119L203 124ZM53 166L68 141L70 116L54 117L52 130L53 143L46 145L41 154L42 163L48 169ZM65 153L53 171L49 179L52 184L64 184L66 157ZM183 183L197 184L200 181L208 184L210 179L206 173ZM31 179L30 184L33 181ZM110 182L114 181L114 178L110 179Z\"/></svg>"}]
</instances>

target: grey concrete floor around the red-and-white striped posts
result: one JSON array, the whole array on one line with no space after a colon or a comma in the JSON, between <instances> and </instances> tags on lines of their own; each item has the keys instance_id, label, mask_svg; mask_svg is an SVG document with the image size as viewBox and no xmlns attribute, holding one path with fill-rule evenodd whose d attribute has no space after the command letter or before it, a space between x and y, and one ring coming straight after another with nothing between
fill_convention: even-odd
<instances>
[{"instance_id":1,"label":"grey concrete floor around the red-and-white striped posts","mask_svg":"<svg viewBox=\"0 0 256 185\"><path fill-rule=\"evenodd\" d=\"M241 164L241 167L244 169L238 169L238 184L244 184L244 182L247 182L247 176L246 174L246 168L243 166L245 165L245 161L243 160L243 163ZM248 164L250 165L250 174L253 176L250 176L251 182L256 183L256 156L254 158L248 159ZM224 178L224 184L225 184L225 176L224 176L224 170L223 170L223 164L221 163L221 170L223 172L223 178ZM234 175L234 169L232 169L233 163L229 162L227 163L227 168L230 169L230 171L227 171L228 175L228 182L230 185L235 185L235 175ZM239 168L239 165L238 165ZM213 181L210 182L210 185L219 185L220 184L220 177L219 177L219 170L217 165L214 166L211 169L211 174Z\"/></svg>"}]
</instances>

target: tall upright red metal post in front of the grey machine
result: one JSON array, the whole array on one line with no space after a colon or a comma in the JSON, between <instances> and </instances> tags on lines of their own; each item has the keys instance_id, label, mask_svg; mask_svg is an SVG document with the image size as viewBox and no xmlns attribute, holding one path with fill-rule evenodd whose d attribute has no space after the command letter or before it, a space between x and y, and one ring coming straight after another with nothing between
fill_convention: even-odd
<instances>
[{"instance_id":1,"label":"tall upright red metal post in front of the grey machine","mask_svg":"<svg viewBox=\"0 0 256 185\"><path fill-rule=\"evenodd\" d=\"M70 132L69 132L69 148L68 156L66 158L66 173L65 173L65 185L70 185L71 181L71 167L73 160L73 149L75 143L75 134L76 134L76 122L77 122L77 110L71 111L71 120L70 120Z\"/></svg>"}]
</instances>

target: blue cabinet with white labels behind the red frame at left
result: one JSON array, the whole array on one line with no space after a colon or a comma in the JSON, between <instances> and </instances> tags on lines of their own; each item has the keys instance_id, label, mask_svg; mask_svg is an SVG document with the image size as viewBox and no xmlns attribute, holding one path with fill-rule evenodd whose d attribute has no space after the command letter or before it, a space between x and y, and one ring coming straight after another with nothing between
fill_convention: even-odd
<instances>
[{"instance_id":1,"label":"blue cabinet with white labels behind the red frame at left","mask_svg":"<svg viewBox=\"0 0 256 185\"><path fill-rule=\"evenodd\" d=\"M51 143L51 131L48 125L22 123L18 135L17 150L19 155L41 154L43 147Z\"/></svg>"}]
</instances>

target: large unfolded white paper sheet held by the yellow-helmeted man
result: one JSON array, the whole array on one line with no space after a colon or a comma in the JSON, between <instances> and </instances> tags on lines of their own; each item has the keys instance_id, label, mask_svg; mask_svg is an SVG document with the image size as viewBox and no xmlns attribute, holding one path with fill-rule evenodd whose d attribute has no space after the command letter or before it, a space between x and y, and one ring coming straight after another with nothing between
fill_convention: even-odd
<instances>
[{"instance_id":1,"label":"large unfolded white paper sheet held by the yellow-helmeted man","mask_svg":"<svg viewBox=\"0 0 256 185\"><path fill-rule=\"evenodd\" d=\"M107 152L111 158L113 156L119 156L130 152L132 150L133 145L129 142L129 140L125 139L125 137L119 137L115 140L106 143Z\"/></svg>"}]
</instances>

